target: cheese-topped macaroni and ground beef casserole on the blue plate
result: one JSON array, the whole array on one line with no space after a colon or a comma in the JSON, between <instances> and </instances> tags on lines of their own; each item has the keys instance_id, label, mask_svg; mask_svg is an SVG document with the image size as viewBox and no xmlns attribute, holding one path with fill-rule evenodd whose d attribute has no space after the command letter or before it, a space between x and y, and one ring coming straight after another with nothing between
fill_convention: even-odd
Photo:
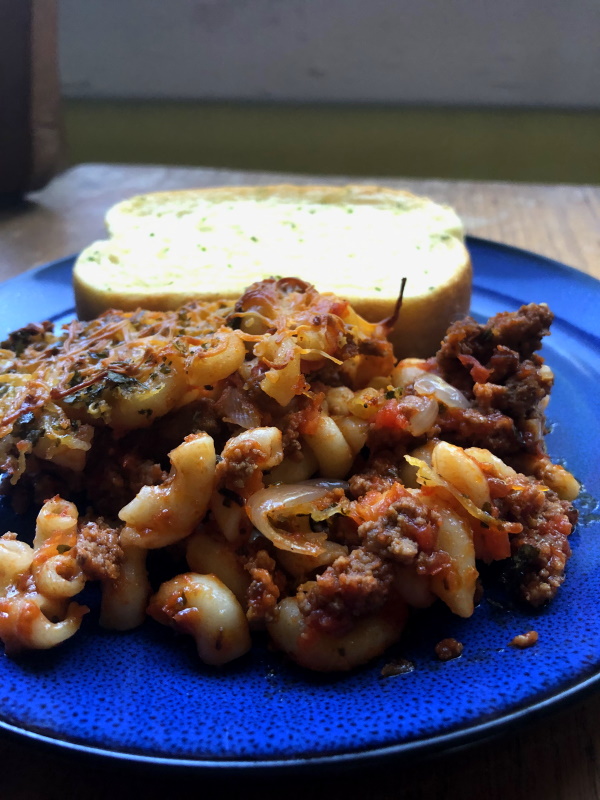
<instances>
[{"instance_id":1,"label":"cheese-topped macaroni and ground beef casserole on the blue plate","mask_svg":"<svg viewBox=\"0 0 600 800\"><path fill-rule=\"evenodd\" d=\"M471 616L481 563L542 606L579 491L544 447L551 321L466 318L396 362L393 320L284 278L14 332L0 468L17 508L41 507L31 543L0 538L6 653L76 633L89 581L105 627L150 616L214 665L266 630L319 671L383 653L411 609Z\"/></svg>"}]
</instances>

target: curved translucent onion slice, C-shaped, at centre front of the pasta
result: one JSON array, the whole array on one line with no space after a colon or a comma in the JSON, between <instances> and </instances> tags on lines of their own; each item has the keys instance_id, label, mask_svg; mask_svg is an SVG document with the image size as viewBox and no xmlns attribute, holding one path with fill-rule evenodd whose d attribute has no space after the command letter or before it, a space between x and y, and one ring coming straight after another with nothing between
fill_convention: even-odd
<instances>
[{"instance_id":1,"label":"curved translucent onion slice, C-shaped, at centre front of the pasta","mask_svg":"<svg viewBox=\"0 0 600 800\"><path fill-rule=\"evenodd\" d=\"M318 556L324 552L326 533L302 531L290 533L275 527L270 516L292 517L310 514L313 504L332 489L346 489L344 481L312 480L304 483L268 486L255 492L246 503L250 521L263 536L280 550Z\"/></svg>"}]
</instances>

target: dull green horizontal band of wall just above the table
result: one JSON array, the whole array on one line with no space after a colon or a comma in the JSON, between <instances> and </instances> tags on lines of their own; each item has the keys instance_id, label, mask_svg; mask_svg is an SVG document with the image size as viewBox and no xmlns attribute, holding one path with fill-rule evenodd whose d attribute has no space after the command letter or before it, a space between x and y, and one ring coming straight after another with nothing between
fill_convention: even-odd
<instances>
[{"instance_id":1,"label":"dull green horizontal band of wall just above the table","mask_svg":"<svg viewBox=\"0 0 600 800\"><path fill-rule=\"evenodd\" d=\"M66 100L69 161L600 183L600 111Z\"/></svg>"}]
</instances>

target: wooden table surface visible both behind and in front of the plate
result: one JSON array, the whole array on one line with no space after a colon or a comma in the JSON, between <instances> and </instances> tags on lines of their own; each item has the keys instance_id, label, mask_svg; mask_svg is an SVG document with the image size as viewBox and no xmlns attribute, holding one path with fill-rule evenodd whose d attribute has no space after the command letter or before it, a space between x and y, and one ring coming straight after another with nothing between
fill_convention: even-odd
<instances>
[{"instance_id":1,"label":"wooden table surface visible both behind and in front of the plate","mask_svg":"<svg viewBox=\"0 0 600 800\"><path fill-rule=\"evenodd\" d=\"M21 206L0 210L0 280L70 255L103 236L117 200L145 191L276 182L345 183L350 178L187 168L82 165ZM364 182L364 181L362 181ZM377 179L453 205L469 233L525 247L600 278L600 187ZM118 678L116 678L118 679ZM63 689L66 687L63 687ZM286 800L591 800L600 798L600 692L554 710L493 741L424 763L360 767L321 775L190 776L88 761L0 735L0 798L164 798L203 796Z\"/></svg>"}]
</instances>

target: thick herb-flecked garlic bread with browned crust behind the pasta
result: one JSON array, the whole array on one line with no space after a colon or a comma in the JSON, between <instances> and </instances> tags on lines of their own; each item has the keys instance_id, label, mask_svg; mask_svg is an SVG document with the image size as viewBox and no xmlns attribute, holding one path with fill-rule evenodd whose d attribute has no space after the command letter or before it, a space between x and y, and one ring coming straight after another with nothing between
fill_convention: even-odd
<instances>
[{"instance_id":1,"label":"thick herb-flecked garlic bread with browned crust behind the pasta","mask_svg":"<svg viewBox=\"0 0 600 800\"><path fill-rule=\"evenodd\" d=\"M298 277L370 321L392 314L396 354L432 355L468 312L471 262L447 206L376 186L257 186L157 192L113 206L111 238L77 259L79 316L236 298L254 281Z\"/></svg>"}]
</instances>

